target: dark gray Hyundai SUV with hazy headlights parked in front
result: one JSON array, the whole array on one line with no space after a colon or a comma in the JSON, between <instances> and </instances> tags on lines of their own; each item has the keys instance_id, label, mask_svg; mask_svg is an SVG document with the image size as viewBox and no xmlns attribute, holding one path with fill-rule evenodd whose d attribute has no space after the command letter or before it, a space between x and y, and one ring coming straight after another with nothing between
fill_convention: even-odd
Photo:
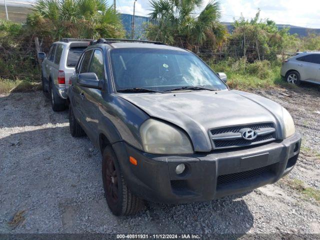
<instances>
[{"instance_id":1,"label":"dark gray Hyundai SUV with hazy headlights parked in front","mask_svg":"<svg viewBox=\"0 0 320 240\"><path fill-rule=\"evenodd\" d=\"M208 201L273 183L295 165L300 135L286 109L230 90L192 52L159 42L99 39L71 77L72 136L102 153L113 214L143 200Z\"/></svg>"}]
</instances>

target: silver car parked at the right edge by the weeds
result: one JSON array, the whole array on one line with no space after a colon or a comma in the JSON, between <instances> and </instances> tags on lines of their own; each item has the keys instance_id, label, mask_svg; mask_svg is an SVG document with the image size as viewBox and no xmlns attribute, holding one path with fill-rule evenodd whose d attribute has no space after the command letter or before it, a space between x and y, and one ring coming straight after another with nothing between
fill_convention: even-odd
<instances>
[{"instance_id":1,"label":"silver car parked at the right edge by the weeds","mask_svg":"<svg viewBox=\"0 0 320 240\"><path fill-rule=\"evenodd\" d=\"M303 81L320 84L320 51L298 52L284 60L281 76L296 85Z\"/></svg>"}]
</instances>

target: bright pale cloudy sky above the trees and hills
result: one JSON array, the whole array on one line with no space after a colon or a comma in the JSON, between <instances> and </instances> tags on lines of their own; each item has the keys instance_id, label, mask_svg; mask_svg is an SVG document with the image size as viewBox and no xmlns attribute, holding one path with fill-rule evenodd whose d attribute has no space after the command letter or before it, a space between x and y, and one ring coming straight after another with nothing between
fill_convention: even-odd
<instances>
[{"instance_id":1,"label":"bright pale cloudy sky above the trees and hills","mask_svg":"<svg viewBox=\"0 0 320 240\"><path fill-rule=\"evenodd\" d=\"M0 2L4 0L0 0ZM30 3L34 0L6 0L7 4ZM112 4L113 0L107 0ZM209 0L204 0L206 4ZM245 18L254 17L260 8L260 17L269 18L278 24L291 24L310 28L320 28L320 0L220 0L221 21L232 22L241 14ZM2 4L1 4L2 5ZM133 13L133 0L116 0L116 8L121 13ZM135 14L147 16L151 8L149 0L137 0Z\"/></svg>"}]
</instances>

